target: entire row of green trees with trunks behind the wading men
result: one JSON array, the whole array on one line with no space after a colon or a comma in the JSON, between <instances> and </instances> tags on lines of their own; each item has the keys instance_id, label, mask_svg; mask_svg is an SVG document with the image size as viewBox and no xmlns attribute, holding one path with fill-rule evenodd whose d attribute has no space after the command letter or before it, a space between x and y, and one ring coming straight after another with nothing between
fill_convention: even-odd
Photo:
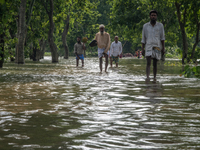
<instances>
[{"instance_id":1,"label":"entire row of green trees with trunks behind the wading men","mask_svg":"<svg viewBox=\"0 0 200 150\"><path fill-rule=\"evenodd\" d=\"M199 8L196 0L0 0L0 67L8 57L17 64L27 57L38 61L45 51L53 63L59 56L68 59L76 37L90 42L102 23L112 40L120 37L124 52L133 53L141 47L142 26L152 9L164 25L166 47L178 47L183 64L195 61L200 56Z\"/></svg>"}]
</instances>

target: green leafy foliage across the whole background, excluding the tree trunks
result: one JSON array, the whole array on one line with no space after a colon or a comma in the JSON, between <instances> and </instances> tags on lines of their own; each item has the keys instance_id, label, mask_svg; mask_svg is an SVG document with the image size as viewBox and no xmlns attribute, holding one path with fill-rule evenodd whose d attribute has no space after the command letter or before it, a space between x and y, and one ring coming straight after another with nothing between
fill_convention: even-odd
<instances>
[{"instance_id":1,"label":"green leafy foliage across the whole background, excluding the tree trunks","mask_svg":"<svg viewBox=\"0 0 200 150\"><path fill-rule=\"evenodd\" d=\"M41 39L48 40L49 18L45 10L45 2L35 1L32 18L27 25L27 36L25 42L25 57L27 58L34 48L40 48ZM29 8L33 0L27 1L26 21L28 23ZM69 53L73 55L76 37L87 37L86 53L96 56L96 47L91 48L88 44L99 31L99 24L106 26L106 32L110 33L111 41L118 35L123 44L124 53L135 53L141 48L142 26L149 22L149 11L158 11L158 21L165 28L165 45L167 58L182 57L182 35L177 19L175 2L181 4L181 14L186 13L186 34L189 45L188 57L192 54L192 47L196 40L197 22L200 20L200 1L195 0L56 0L54 1L53 20L55 23L54 41L60 56L64 55L62 33L66 25L66 18L70 15L67 44ZM20 0L0 0L0 34L5 34L5 58L15 54L15 44ZM182 18L183 19L183 18ZM183 21L183 20L182 20ZM46 50L50 51L49 45ZM195 58L200 58L200 44L195 49ZM177 65L177 64L175 64Z\"/></svg>"}]
</instances>

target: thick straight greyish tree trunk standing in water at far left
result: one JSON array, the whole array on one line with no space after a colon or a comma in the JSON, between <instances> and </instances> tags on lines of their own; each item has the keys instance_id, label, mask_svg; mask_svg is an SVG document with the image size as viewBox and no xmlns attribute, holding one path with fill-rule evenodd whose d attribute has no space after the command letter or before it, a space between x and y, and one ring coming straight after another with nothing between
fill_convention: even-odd
<instances>
[{"instance_id":1,"label":"thick straight greyish tree trunk standing in water at far left","mask_svg":"<svg viewBox=\"0 0 200 150\"><path fill-rule=\"evenodd\" d=\"M21 0L18 23L18 44L16 47L16 63L24 64L24 42L26 32L26 0Z\"/></svg>"}]
</instances>

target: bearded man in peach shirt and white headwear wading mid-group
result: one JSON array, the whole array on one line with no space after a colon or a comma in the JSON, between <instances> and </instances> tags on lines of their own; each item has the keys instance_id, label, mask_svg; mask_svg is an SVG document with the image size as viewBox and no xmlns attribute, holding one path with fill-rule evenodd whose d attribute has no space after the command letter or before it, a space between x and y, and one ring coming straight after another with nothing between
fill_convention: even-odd
<instances>
[{"instance_id":1,"label":"bearded man in peach shirt and white headwear wading mid-group","mask_svg":"<svg viewBox=\"0 0 200 150\"><path fill-rule=\"evenodd\" d=\"M102 73L102 58L103 58L103 56L106 59L105 72L107 72L108 50L110 48L110 35L109 35L109 33L105 32L105 26L103 24L101 24L99 26L99 32L96 34L95 40L97 41L97 46L98 46L100 72Z\"/></svg>"}]
</instances>

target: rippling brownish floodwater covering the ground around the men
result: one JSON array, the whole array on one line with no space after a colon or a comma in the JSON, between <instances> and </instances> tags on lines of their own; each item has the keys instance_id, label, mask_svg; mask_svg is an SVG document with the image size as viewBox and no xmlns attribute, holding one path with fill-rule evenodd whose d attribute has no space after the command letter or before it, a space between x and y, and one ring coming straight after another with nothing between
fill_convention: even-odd
<instances>
[{"instance_id":1,"label":"rippling brownish floodwater covering the ground around the men","mask_svg":"<svg viewBox=\"0 0 200 150\"><path fill-rule=\"evenodd\" d=\"M98 65L5 63L0 150L200 149L199 79L159 62L157 80L145 81L144 59L120 59L102 74Z\"/></svg>"}]
</instances>

